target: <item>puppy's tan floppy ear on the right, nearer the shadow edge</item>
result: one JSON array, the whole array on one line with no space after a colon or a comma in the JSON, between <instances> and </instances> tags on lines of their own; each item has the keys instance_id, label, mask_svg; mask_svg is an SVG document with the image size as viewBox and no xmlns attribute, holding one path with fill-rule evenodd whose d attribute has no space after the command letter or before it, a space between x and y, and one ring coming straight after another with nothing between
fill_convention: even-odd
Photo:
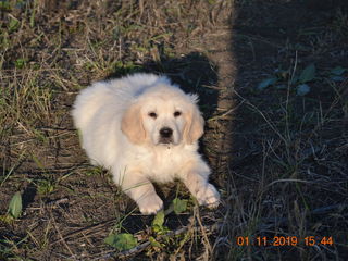
<instances>
[{"instance_id":1,"label":"puppy's tan floppy ear on the right, nearer the shadow edge","mask_svg":"<svg viewBox=\"0 0 348 261\"><path fill-rule=\"evenodd\" d=\"M198 107L195 103L190 104L189 111L186 114L186 125L184 128L184 140L187 144L192 144L198 140L204 133L204 119L201 116Z\"/></svg>"}]
</instances>

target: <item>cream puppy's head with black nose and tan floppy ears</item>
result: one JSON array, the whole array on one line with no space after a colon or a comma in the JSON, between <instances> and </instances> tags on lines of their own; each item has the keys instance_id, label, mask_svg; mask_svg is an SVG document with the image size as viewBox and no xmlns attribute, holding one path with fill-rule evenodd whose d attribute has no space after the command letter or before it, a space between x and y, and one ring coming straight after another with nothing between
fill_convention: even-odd
<instances>
[{"instance_id":1,"label":"cream puppy's head with black nose and tan floppy ears","mask_svg":"<svg viewBox=\"0 0 348 261\"><path fill-rule=\"evenodd\" d=\"M141 94L125 112L122 132L134 144L153 146L192 144L203 134L197 96L160 85Z\"/></svg>"}]
</instances>

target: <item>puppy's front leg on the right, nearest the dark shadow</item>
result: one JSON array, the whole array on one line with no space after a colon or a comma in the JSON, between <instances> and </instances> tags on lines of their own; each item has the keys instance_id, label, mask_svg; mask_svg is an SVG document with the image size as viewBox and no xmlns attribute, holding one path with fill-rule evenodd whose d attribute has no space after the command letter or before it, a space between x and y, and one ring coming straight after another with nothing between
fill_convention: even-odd
<instances>
[{"instance_id":1,"label":"puppy's front leg on the right, nearest the dark shadow","mask_svg":"<svg viewBox=\"0 0 348 261\"><path fill-rule=\"evenodd\" d=\"M212 209L219 206L220 195L216 188L208 183L209 174L210 170L206 162L199 161L198 164L188 164L181 174L181 178L199 204L206 204Z\"/></svg>"}]
</instances>

